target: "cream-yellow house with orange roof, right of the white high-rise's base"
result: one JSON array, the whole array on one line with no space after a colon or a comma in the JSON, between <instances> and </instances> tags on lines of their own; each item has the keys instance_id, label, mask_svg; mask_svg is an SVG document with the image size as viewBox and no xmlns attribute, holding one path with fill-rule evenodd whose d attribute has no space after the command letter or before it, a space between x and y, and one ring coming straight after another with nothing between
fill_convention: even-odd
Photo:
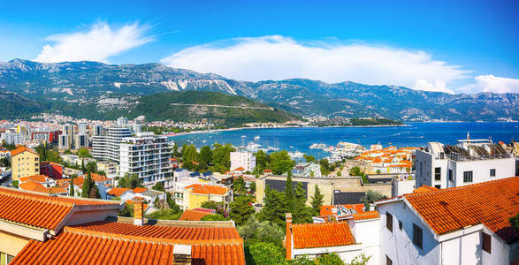
<instances>
[{"instance_id":1,"label":"cream-yellow house with orange roof, right of the white high-rise's base","mask_svg":"<svg viewBox=\"0 0 519 265\"><path fill-rule=\"evenodd\" d=\"M193 184L184 188L183 209L202 208L202 202L222 202L227 208L233 201L233 191L225 186Z\"/></svg>"}]
</instances>

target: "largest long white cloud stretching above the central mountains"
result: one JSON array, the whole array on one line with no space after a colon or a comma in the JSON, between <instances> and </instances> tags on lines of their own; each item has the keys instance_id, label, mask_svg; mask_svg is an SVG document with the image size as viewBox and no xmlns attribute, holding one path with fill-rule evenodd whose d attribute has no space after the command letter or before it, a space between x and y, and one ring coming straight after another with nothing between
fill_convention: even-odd
<instances>
[{"instance_id":1,"label":"largest long white cloud stretching above the central mountains","mask_svg":"<svg viewBox=\"0 0 519 265\"><path fill-rule=\"evenodd\" d=\"M240 80L306 78L331 83L351 80L370 85L414 87L418 84L422 89L449 92L452 90L441 84L464 79L469 73L459 66L433 60L424 51L366 44L301 43L284 36L238 38L195 46L180 50L162 62Z\"/></svg>"}]
</instances>

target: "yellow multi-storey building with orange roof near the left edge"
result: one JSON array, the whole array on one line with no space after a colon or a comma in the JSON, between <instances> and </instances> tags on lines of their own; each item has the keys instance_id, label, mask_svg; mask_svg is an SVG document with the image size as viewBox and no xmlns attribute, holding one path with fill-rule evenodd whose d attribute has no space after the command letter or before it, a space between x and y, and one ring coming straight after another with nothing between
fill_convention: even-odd
<instances>
[{"instance_id":1,"label":"yellow multi-storey building with orange roof near the left edge","mask_svg":"<svg viewBox=\"0 0 519 265\"><path fill-rule=\"evenodd\" d=\"M40 156L31 148L20 147L11 151L12 181L40 174Z\"/></svg>"}]
</instances>

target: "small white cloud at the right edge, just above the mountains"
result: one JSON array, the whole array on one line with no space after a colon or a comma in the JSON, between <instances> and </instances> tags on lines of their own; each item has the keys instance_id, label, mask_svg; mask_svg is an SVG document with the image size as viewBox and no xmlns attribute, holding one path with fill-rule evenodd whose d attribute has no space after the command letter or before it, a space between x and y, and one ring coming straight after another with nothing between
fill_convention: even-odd
<instances>
[{"instance_id":1,"label":"small white cloud at the right edge, just above the mountains","mask_svg":"<svg viewBox=\"0 0 519 265\"><path fill-rule=\"evenodd\" d=\"M460 87L459 90L465 93L519 93L519 79L508 79L488 74L478 75L475 80L476 83Z\"/></svg>"}]
</instances>

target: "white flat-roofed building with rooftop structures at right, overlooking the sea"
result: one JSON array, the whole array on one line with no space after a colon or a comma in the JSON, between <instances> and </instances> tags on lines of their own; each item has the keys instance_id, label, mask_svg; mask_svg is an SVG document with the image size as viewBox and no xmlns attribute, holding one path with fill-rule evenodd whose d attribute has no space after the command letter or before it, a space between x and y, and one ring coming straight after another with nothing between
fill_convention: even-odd
<instances>
[{"instance_id":1,"label":"white flat-roofed building with rooftop structures at right, overlooking the sea","mask_svg":"<svg viewBox=\"0 0 519 265\"><path fill-rule=\"evenodd\" d=\"M489 140L430 142L416 150L415 164L416 187L443 189L515 176L515 157Z\"/></svg>"}]
</instances>

